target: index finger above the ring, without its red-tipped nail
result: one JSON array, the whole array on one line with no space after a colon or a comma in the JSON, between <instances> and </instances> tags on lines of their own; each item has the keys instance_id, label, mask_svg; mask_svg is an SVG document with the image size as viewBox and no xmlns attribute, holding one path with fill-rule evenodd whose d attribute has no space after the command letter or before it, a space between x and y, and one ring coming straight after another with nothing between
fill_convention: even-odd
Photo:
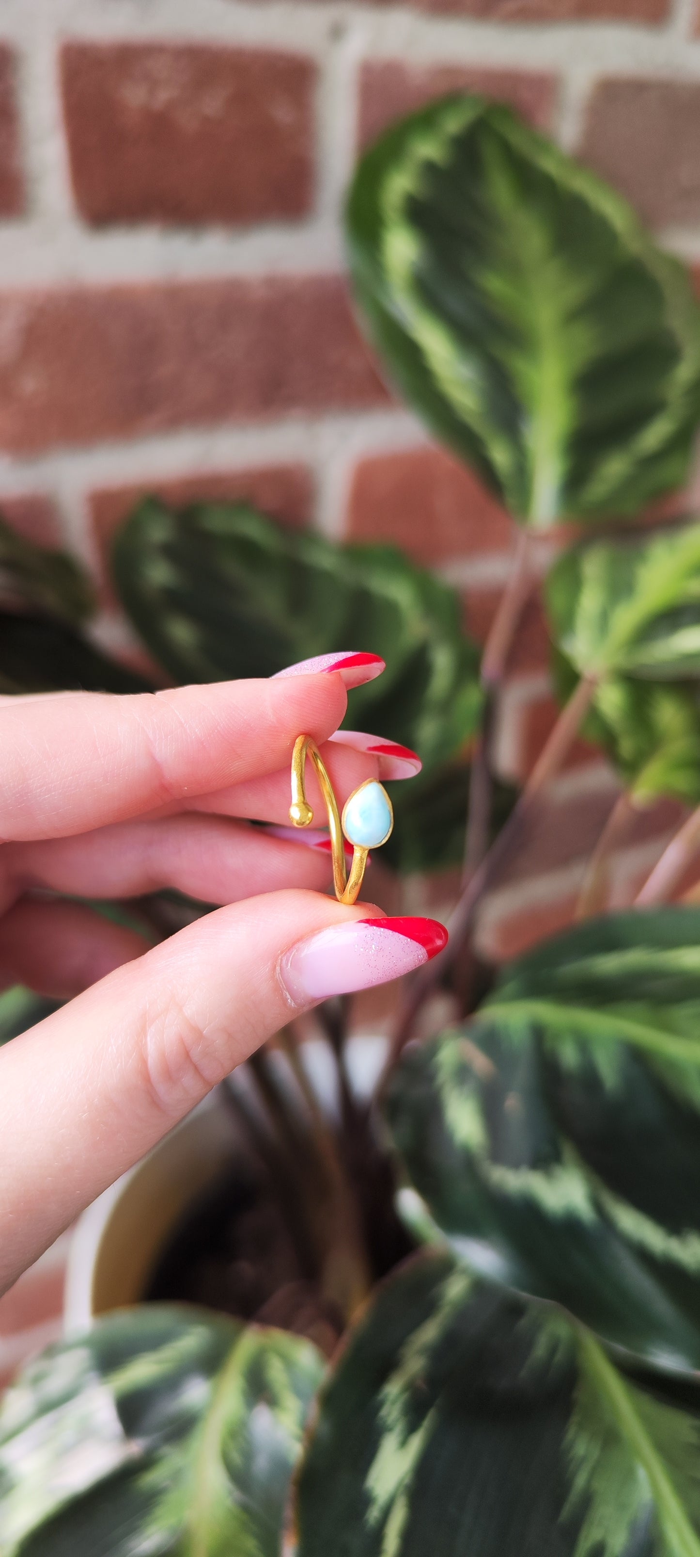
<instances>
[{"instance_id":1,"label":"index finger above the ring, without its red-tipped nail","mask_svg":"<svg viewBox=\"0 0 700 1557\"><path fill-rule=\"evenodd\" d=\"M345 707L339 674L3 704L0 838L65 838L274 772Z\"/></svg>"}]
</instances>

